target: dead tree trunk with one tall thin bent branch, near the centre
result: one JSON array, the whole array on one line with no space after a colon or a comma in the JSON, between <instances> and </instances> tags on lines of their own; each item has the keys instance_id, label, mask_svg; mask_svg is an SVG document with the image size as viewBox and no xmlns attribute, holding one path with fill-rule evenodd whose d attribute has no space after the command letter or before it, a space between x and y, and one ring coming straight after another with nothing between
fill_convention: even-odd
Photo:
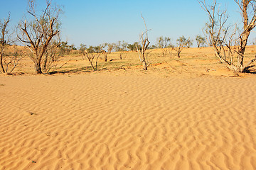
<instances>
[{"instance_id":1,"label":"dead tree trunk with one tall thin bent branch, near the centre","mask_svg":"<svg viewBox=\"0 0 256 170\"><path fill-rule=\"evenodd\" d=\"M144 25L146 28L146 22L142 16L142 19L144 21ZM136 45L137 52L139 54L139 60L143 64L143 69L147 70L149 67L149 61L148 61L148 53L146 53L147 48L149 47L149 37L148 37L148 29L146 28L146 31L142 33L139 37L139 45Z\"/></svg>"}]
</instances>

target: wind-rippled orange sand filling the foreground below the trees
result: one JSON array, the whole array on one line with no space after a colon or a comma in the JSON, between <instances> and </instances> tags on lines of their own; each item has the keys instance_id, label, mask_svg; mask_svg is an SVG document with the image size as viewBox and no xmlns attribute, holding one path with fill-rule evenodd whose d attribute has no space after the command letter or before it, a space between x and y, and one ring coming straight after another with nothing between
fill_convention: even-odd
<instances>
[{"instance_id":1,"label":"wind-rippled orange sand filling the foreground below the trees","mask_svg":"<svg viewBox=\"0 0 256 170\"><path fill-rule=\"evenodd\" d=\"M0 77L0 169L256 169L255 77Z\"/></svg>"}]
</instances>

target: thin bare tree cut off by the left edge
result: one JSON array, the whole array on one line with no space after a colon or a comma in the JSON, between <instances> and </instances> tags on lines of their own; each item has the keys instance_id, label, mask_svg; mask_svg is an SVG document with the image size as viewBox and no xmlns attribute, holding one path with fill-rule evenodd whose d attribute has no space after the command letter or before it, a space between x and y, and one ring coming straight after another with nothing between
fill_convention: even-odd
<instances>
[{"instance_id":1,"label":"thin bare tree cut off by the left edge","mask_svg":"<svg viewBox=\"0 0 256 170\"><path fill-rule=\"evenodd\" d=\"M16 45L9 45L9 43L14 43L8 29L10 21L10 14L4 21L0 20L0 72L5 74L13 72L18 66L18 62L23 58L23 52L18 51ZM5 50L9 50L9 52Z\"/></svg>"}]
</instances>

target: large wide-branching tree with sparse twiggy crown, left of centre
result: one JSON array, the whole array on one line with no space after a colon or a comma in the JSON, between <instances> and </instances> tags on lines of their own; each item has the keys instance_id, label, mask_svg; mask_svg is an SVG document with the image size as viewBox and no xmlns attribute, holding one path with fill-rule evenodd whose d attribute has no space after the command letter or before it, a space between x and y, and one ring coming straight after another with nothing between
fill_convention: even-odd
<instances>
[{"instance_id":1,"label":"large wide-branching tree with sparse twiggy crown, left of centre","mask_svg":"<svg viewBox=\"0 0 256 170\"><path fill-rule=\"evenodd\" d=\"M46 0L45 10L38 15L35 1L28 0L28 4L28 14L33 20L21 21L18 26L18 40L31 50L33 55L30 58L35 64L36 73L42 74L43 56L46 55L50 42L60 33L59 17L62 11L59 6L53 6L50 0Z\"/></svg>"}]
</instances>

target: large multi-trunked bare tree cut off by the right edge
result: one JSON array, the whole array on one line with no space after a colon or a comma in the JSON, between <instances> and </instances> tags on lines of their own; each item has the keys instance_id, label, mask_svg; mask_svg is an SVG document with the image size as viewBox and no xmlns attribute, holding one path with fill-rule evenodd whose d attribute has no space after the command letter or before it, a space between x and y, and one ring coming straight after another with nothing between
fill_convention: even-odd
<instances>
[{"instance_id":1,"label":"large multi-trunked bare tree cut off by the right edge","mask_svg":"<svg viewBox=\"0 0 256 170\"><path fill-rule=\"evenodd\" d=\"M217 1L213 4L206 4L206 0L199 3L204 11L208 13L209 21L206 23L204 33L207 35L208 44L213 46L215 55L221 62L228 64L228 68L236 72L244 72L255 58L244 64L245 48L249 35L256 26L256 1L254 0L234 0L238 4L242 14L242 30L234 26L226 26L228 21L227 10L220 10ZM228 52L225 51L228 49ZM235 64L235 59L237 64Z\"/></svg>"}]
</instances>

